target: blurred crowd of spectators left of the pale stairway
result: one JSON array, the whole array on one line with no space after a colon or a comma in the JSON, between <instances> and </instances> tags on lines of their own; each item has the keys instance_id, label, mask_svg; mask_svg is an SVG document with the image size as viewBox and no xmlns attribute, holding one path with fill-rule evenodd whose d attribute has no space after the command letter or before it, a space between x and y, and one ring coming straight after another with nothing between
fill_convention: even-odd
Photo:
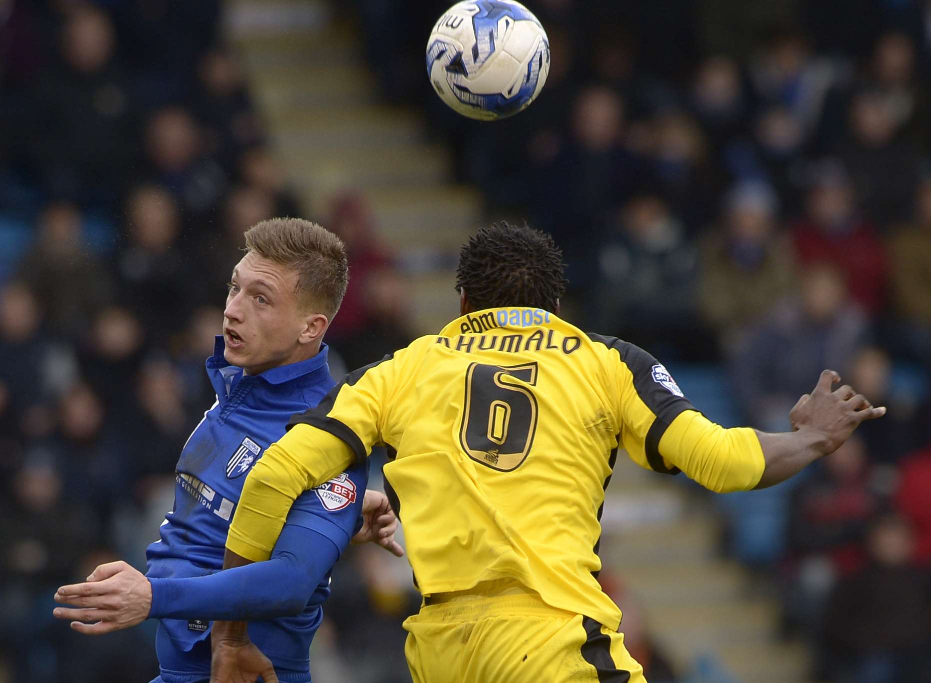
<instances>
[{"instance_id":1,"label":"blurred crowd of spectators left of the pale stairway","mask_svg":"<svg viewBox=\"0 0 931 683\"><path fill-rule=\"evenodd\" d=\"M242 234L305 215L223 43L221 5L0 2L0 680L157 672L152 624L76 636L51 596L117 557L144 567L178 454L213 402L204 360ZM328 334L340 376L410 341L404 284L360 198L315 209L354 275ZM383 560L353 557L337 594L358 604L321 631L320 666L342 665L370 612L389 615L369 627L403 658L410 577L370 594L360 572Z\"/></svg>"}]
</instances>

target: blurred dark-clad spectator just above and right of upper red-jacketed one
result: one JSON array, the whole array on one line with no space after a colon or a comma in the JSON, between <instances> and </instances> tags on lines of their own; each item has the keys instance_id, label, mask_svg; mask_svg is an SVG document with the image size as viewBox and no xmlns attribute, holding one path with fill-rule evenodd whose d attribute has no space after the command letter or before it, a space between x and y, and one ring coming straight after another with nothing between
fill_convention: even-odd
<instances>
[{"instance_id":1,"label":"blurred dark-clad spectator just above and right of upper red-jacketed one","mask_svg":"<svg viewBox=\"0 0 931 683\"><path fill-rule=\"evenodd\" d=\"M866 214L882 227L909 217L918 182L918 154L898 127L894 100L870 90L854 97L840 156Z\"/></svg>"}]
</instances>

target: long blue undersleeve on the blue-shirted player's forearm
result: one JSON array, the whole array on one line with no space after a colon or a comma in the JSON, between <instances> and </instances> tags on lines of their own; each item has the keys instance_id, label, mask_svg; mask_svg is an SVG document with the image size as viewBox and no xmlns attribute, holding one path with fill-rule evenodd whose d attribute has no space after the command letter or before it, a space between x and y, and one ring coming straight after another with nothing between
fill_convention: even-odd
<instances>
[{"instance_id":1,"label":"long blue undersleeve on the blue-shirted player's forearm","mask_svg":"<svg viewBox=\"0 0 931 683\"><path fill-rule=\"evenodd\" d=\"M208 576L149 579L149 617L251 622L300 614L343 547L289 520L267 562Z\"/></svg>"}]
</instances>

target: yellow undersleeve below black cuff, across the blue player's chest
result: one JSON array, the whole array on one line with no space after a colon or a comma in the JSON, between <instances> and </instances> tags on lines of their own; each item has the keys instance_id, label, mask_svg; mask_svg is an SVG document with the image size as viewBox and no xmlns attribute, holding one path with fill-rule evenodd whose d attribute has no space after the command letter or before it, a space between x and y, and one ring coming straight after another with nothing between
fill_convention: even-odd
<instances>
[{"instance_id":1,"label":"yellow undersleeve below black cuff, across the blue player's chest","mask_svg":"<svg viewBox=\"0 0 931 683\"><path fill-rule=\"evenodd\" d=\"M295 499L339 475L354 459L352 449L339 436L309 424L296 425L252 466L226 547L253 562L268 559Z\"/></svg>"}]
</instances>

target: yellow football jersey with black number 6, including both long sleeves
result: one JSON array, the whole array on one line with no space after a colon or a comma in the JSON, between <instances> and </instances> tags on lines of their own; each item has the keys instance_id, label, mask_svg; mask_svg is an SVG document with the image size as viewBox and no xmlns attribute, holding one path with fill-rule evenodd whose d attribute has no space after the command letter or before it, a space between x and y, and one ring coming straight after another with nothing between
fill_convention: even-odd
<instances>
[{"instance_id":1,"label":"yellow football jersey with black number 6, including both long sleeves","mask_svg":"<svg viewBox=\"0 0 931 683\"><path fill-rule=\"evenodd\" d=\"M763 470L753 431L708 422L653 356L527 308L464 315L291 423L243 489L227 541L237 554L267 557L297 495L385 444L422 593L513 578L615 629L620 610L596 577L618 449L715 490L751 489Z\"/></svg>"}]
</instances>

